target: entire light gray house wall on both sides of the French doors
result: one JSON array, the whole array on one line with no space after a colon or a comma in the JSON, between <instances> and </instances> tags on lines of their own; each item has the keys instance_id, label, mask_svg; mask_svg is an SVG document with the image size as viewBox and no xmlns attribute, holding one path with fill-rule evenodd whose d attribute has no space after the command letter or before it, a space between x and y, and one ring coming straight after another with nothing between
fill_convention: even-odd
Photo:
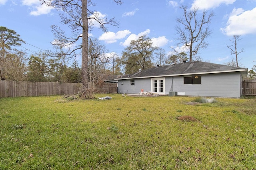
<instances>
[{"instance_id":1,"label":"entire light gray house wall on both sides of the French doors","mask_svg":"<svg viewBox=\"0 0 256 170\"><path fill-rule=\"evenodd\" d=\"M165 77L165 92L183 92L185 96L209 96L209 97L230 97L240 98L241 94L241 74L240 72L191 75L201 76L201 84L184 84L184 77ZM173 78L173 80L172 80ZM134 86L130 79L118 80L118 92L126 94L138 94L141 89L144 92L152 91L152 79L134 79Z\"/></svg>"}]
</instances>

